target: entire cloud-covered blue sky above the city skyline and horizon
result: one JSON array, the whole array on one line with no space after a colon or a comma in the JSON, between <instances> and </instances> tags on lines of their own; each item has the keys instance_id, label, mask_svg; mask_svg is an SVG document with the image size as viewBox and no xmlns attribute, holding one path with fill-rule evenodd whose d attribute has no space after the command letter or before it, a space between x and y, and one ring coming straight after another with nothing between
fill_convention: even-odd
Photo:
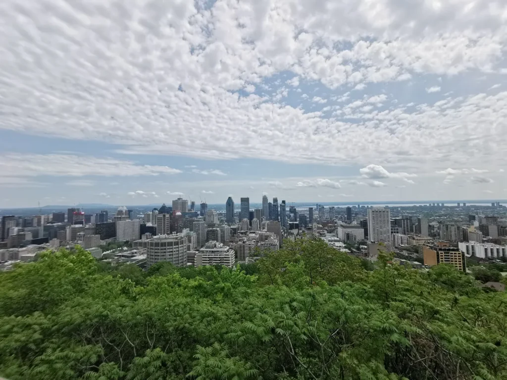
<instances>
[{"instance_id":1,"label":"entire cloud-covered blue sky above the city skyline and horizon","mask_svg":"<svg viewBox=\"0 0 507 380\"><path fill-rule=\"evenodd\" d=\"M0 207L506 199L504 0L3 0Z\"/></svg>"}]
</instances>

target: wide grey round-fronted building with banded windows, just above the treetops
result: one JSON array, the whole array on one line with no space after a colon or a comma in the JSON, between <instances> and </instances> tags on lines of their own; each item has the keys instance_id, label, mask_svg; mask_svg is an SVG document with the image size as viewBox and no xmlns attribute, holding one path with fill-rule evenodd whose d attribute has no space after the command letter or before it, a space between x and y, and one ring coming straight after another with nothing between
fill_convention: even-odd
<instances>
[{"instance_id":1,"label":"wide grey round-fronted building with banded windows, just above the treetops","mask_svg":"<svg viewBox=\"0 0 507 380\"><path fill-rule=\"evenodd\" d=\"M146 241L146 266L168 261L176 267L187 265L187 238L183 234L157 235Z\"/></svg>"}]
</instances>

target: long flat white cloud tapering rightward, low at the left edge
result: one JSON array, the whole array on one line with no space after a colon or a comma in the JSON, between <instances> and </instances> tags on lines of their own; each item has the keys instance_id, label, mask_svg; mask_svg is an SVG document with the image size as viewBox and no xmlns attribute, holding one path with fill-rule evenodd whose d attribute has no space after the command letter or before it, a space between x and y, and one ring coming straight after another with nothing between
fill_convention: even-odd
<instances>
[{"instance_id":1,"label":"long flat white cloud tapering rightward, low at the left edge","mask_svg":"<svg viewBox=\"0 0 507 380\"><path fill-rule=\"evenodd\" d=\"M43 174L82 177L176 174L181 171L168 166L137 165L131 161L113 158L5 153L0 155L0 173L16 177Z\"/></svg>"}]
</instances>

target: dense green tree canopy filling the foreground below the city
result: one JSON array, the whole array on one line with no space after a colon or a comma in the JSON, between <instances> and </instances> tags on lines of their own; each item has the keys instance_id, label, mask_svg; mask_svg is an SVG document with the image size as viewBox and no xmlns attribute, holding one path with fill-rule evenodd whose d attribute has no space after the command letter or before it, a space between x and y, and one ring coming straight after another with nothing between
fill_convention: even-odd
<instances>
[{"instance_id":1,"label":"dense green tree canopy filling the foreground below the city","mask_svg":"<svg viewBox=\"0 0 507 380\"><path fill-rule=\"evenodd\" d=\"M447 265L375 270L319 240L257 264L143 272L77 249L0 274L16 379L507 378L507 298Z\"/></svg>"}]
</instances>

